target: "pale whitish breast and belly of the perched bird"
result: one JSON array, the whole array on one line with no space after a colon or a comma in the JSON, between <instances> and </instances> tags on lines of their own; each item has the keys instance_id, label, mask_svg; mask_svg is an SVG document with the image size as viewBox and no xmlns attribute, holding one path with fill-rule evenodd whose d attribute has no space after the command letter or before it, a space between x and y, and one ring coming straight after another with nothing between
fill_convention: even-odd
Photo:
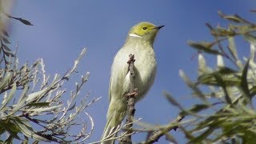
<instances>
[{"instance_id":1,"label":"pale whitish breast and belly of the perched bird","mask_svg":"<svg viewBox=\"0 0 256 144\"><path fill-rule=\"evenodd\" d=\"M114 58L111 73L111 93L118 94L118 97L123 97L123 94L129 92L130 72L128 71L129 54L134 54L135 66L135 87L138 88L138 96L136 101L141 99L154 82L156 73L156 60L154 50L151 46L134 45L124 47L118 51ZM124 56L125 55L125 56ZM117 95L115 95L117 96Z\"/></svg>"}]
</instances>

